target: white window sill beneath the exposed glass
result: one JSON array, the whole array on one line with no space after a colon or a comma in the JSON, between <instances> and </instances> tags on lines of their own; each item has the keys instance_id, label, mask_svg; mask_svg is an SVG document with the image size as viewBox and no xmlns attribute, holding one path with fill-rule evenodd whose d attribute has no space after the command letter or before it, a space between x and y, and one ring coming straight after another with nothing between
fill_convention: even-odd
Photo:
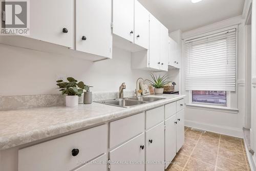
<instances>
[{"instance_id":1,"label":"white window sill beneath the exposed glass","mask_svg":"<svg viewBox=\"0 0 256 171\"><path fill-rule=\"evenodd\" d=\"M201 109L201 110L208 110L208 111L218 111L218 112L226 112L226 113L234 113L238 114L238 109L235 108L227 108L224 106L213 106L213 105L205 105L205 104L195 104L189 103L186 104L187 108L192 109Z\"/></svg>"}]
</instances>

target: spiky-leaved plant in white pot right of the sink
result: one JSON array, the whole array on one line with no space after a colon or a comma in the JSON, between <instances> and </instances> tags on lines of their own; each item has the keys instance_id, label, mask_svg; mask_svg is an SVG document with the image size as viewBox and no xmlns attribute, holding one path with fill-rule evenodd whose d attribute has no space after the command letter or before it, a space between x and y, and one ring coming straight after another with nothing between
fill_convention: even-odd
<instances>
[{"instance_id":1,"label":"spiky-leaved plant in white pot right of the sink","mask_svg":"<svg viewBox=\"0 0 256 171\"><path fill-rule=\"evenodd\" d=\"M153 75L153 74L150 74L151 75L151 78L153 79L153 81L151 80L148 80L150 81L151 85L155 88L154 91L155 91L155 94L156 95L161 95L163 94L163 87L164 87L164 84L167 84L169 83L170 81L167 81L167 79L169 78L168 75Z\"/></svg>"}]
</instances>

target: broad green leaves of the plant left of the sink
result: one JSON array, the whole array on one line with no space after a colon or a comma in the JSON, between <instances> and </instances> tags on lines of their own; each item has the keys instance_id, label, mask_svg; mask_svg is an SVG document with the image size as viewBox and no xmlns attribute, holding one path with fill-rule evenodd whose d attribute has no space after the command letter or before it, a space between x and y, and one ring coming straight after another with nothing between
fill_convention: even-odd
<instances>
[{"instance_id":1,"label":"broad green leaves of the plant left of the sink","mask_svg":"<svg viewBox=\"0 0 256 171\"><path fill-rule=\"evenodd\" d=\"M77 83L77 80L72 77L68 77L67 80L69 82L65 82L63 80L57 80L57 86L59 87L59 91L61 94L68 96L81 96L83 90L89 91L90 86L85 85L82 81Z\"/></svg>"}]
</instances>

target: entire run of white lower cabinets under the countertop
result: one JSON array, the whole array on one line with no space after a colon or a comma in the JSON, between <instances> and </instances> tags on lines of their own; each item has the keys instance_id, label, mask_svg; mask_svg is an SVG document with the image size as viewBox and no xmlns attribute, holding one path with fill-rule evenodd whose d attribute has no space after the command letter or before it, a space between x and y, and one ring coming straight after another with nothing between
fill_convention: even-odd
<instances>
[{"instance_id":1,"label":"entire run of white lower cabinets under the countertop","mask_svg":"<svg viewBox=\"0 0 256 171\"><path fill-rule=\"evenodd\" d=\"M184 144L183 103L18 149L17 170L164 171Z\"/></svg>"}]
</instances>

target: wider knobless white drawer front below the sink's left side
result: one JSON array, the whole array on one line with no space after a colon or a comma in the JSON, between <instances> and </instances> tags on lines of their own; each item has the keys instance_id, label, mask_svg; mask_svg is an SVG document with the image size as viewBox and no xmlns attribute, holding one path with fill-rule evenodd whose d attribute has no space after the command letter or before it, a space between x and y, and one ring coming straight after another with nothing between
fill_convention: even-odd
<instances>
[{"instance_id":1,"label":"wider knobless white drawer front below the sink's left side","mask_svg":"<svg viewBox=\"0 0 256 171\"><path fill-rule=\"evenodd\" d=\"M145 114L140 113L110 123L110 148L144 132Z\"/></svg>"}]
</instances>

